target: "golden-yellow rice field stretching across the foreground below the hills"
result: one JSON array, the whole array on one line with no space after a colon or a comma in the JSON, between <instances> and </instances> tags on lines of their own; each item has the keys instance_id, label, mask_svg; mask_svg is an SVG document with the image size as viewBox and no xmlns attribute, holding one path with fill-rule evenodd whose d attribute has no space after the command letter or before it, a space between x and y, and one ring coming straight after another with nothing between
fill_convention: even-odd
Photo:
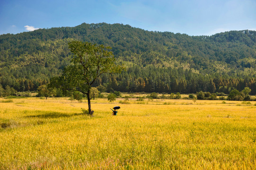
<instances>
[{"instance_id":1,"label":"golden-yellow rice field stretching across the foreground below the hills","mask_svg":"<svg viewBox=\"0 0 256 170\"><path fill-rule=\"evenodd\" d=\"M0 99L0 170L256 170L256 102L120 100Z\"/></svg>"}]
</instances>

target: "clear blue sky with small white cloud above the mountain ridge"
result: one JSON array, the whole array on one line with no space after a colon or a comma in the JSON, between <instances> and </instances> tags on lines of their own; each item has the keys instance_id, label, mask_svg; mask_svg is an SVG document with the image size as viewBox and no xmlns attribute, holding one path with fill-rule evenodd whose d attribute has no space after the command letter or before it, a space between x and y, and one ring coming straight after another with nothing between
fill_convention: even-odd
<instances>
[{"instance_id":1,"label":"clear blue sky with small white cloud above the mountain ridge","mask_svg":"<svg viewBox=\"0 0 256 170\"><path fill-rule=\"evenodd\" d=\"M102 22L188 35L256 30L256 0L0 0L0 34Z\"/></svg>"}]
</instances>

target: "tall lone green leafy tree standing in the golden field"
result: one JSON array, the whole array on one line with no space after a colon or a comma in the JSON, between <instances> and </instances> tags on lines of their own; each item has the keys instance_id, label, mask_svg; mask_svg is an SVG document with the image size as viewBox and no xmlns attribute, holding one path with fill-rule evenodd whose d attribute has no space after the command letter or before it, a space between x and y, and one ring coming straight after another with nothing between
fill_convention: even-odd
<instances>
[{"instance_id":1,"label":"tall lone green leafy tree standing in the golden field","mask_svg":"<svg viewBox=\"0 0 256 170\"><path fill-rule=\"evenodd\" d=\"M62 76L51 79L51 86L68 91L79 91L87 95L88 112L91 113L91 86L102 74L120 73L123 66L115 64L111 47L90 42L72 41L68 43L74 54L71 64L66 66Z\"/></svg>"}]
</instances>

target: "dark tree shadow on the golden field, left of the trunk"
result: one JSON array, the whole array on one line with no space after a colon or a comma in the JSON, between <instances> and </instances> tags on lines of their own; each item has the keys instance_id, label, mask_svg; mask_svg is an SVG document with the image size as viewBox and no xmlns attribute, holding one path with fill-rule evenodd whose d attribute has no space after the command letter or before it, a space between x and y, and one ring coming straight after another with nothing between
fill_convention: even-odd
<instances>
[{"instance_id":1,"label":"dark tree shadow on the golden field, left of the trunk","mask_svg":"<svg viewBox=\"0 0 256 170\"><path fill-rule=\"evenodd\" d=\"M73 114L68 114L68 113L60 113L56 111L51 111L51 112L46 112L46 111L36 111L36 113L39 113L37 115L27 115L25 118L44 118L44 119L54 119L54 118L69 118L72 116L78 116L81 115L81 113L73 113ZM41 114L40 114L41 113Z\"/></svg>"}]
</instances>

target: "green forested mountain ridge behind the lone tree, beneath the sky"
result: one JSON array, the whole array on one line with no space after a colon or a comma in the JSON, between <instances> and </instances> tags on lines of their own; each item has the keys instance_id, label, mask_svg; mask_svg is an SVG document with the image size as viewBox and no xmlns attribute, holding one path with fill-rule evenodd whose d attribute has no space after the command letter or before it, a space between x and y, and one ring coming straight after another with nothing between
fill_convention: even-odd
<instances>
[{"instance_id":1,"label":"green forested mountain ridge behind the lone tree, beneath the sky","mask_svg":"<svg viewBox=\"0 0 256 170\"><path fill-rule=\"evenodd\" d=\"M152 32L122 24L81 24L0 35L0 84L35 91L69 64L68 42L111 46L122 74L101 76L107 91L256 94L256 31L212 36Z\"/></svg>"}]
</instances>

